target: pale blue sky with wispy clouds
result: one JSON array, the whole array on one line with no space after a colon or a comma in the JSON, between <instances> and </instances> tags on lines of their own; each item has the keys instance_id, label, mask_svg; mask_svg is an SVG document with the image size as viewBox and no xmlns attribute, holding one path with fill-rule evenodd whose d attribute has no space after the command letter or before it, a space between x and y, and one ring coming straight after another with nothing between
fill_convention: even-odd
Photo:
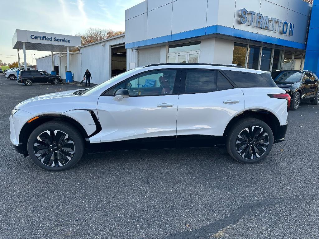
<instances>
[{"instance_id":1,"label":"pale blue sky with wispy clouds","mask_svg":"<svg viewBox=\"0 0 319 239\"><path fill-rule=\"evenodd\" d=\"M0 13L0 59L18 61L18 52L12 49L16 29L74 35L90 27L125 31L125 10L143 0L10 0L2 4ZM26 50L28 63L31 55L51 54ZM20 50L23 62L23 50ZM33 64L35 60L33 58Z\"/></svg>"}]
</instances>

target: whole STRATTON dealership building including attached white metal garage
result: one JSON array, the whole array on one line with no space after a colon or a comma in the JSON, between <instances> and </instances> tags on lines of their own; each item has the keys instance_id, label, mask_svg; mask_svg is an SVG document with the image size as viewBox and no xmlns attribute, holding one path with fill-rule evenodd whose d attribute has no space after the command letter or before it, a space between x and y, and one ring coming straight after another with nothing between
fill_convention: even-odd
<instances>
[{"instance_id":1,"label":"whole STRATTON dealership building including attached white metal garage","mask_svg":"<svg viewBox=\"0 0 319 239\"><path fill-rule=\"evenodd\" d=\"M319 0L313 5L302 0L146 0L125 11L125 35L70 53L70 69L76 81L89 69L92 83L155 63L236 64L319 74L317 39ZM50 67L45 66L50 57L37 59L38 69ZM56 54L60 72L66 69L63 57Z\"/></svg>"}]
</instances>

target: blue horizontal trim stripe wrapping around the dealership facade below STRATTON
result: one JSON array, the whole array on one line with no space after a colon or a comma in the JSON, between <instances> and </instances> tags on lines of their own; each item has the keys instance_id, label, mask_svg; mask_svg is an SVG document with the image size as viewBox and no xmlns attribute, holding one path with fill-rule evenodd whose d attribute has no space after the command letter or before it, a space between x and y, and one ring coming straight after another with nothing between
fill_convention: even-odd
<instances>
[{"instance_id":1,"label":"blue horizontal trim stripe wrapping around the dealership facade below STRATTON","mask_svg":"<svg viewBox=\"0 0 319 239\"><path fill-rule=\"evenodd\" d=\"M298 49L306 49L306 44L302 44L299 42L284 40L276 37L270 37L262 34L257 33L251 33L231 27L221 26L221 25L213 25L208 27L203 27L187 32L182 33L175 33L167 36L162 37L156 37L148 40L142 40L142 41L136 41L129 44L125 44L126 48L134 48L134 47L142 47L142 46L149 46L153 44L159 44L169 41L176 41L176 40L182 40L187 38L193 38L193 37L200 37L204 35L210 35L210 34L223 34L228 36L234 36L239 37L243 39L249 39L249 40L255 40L255 41L263 41L271 44L277 44L280 46L286 46L286 47L293 47Z\"/></svg>"}]
</instances>

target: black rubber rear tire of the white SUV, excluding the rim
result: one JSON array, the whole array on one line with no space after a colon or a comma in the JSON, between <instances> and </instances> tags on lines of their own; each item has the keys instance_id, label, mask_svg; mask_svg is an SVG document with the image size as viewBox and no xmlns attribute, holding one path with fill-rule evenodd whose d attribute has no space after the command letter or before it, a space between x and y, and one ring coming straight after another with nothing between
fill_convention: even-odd
<instances>
[{"instance_id":1,"label":"black rubber rear tire of the white SUV, excluding the rim","mask_svg":"<svg viewBox=\"0 0 319 239\"><path fill-rule=\"evenodd\" d=\"M267 132L268 137L269 137L269 145L268 145L266 152L262 156L260 156L259 158L253 159L253 160L248 160L248 159L241 157L238 154L237 149L236 149L236 138L241 133L241 131L243 131L245 128L251 127L251 126L262 127ZM244 119L244 120L239 121L236 124L236 126L233 127L233 129L230 131L230 135L227 139L226 147L227 147L228 153L237 161L239 161L241 163L257 163L268 156L269 152L271 151L273 142L274 142L274 136L273 136L272 130L265 122L263 122L261 120L254 119L254 118L248 118L248 119Z\"/></svg>"}]
</instances>

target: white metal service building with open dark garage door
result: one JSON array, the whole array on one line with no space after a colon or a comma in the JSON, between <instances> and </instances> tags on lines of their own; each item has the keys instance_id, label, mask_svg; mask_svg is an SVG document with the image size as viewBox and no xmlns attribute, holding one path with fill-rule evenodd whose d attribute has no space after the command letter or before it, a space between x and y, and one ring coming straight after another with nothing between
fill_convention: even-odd
<instances>
[{"instance_id":1,"label":"white metal service building with open dark garage door","mask_svg":"<svg viewBox=\"0 0 319 239\"><path fill-rule=\"evenodd\" d=\"M51 59L51 55L37 58L37 69L49 72ZM59 66L59 75L65 79L66 55L54 54L54 62ZM136 51L125 49L125 34L83 45L79 47L79 52L70 53L70 71L74 81L81 81L86 69L92 74L91 83L98 84L135 67Z\"/></svg>"}]
</instances>

